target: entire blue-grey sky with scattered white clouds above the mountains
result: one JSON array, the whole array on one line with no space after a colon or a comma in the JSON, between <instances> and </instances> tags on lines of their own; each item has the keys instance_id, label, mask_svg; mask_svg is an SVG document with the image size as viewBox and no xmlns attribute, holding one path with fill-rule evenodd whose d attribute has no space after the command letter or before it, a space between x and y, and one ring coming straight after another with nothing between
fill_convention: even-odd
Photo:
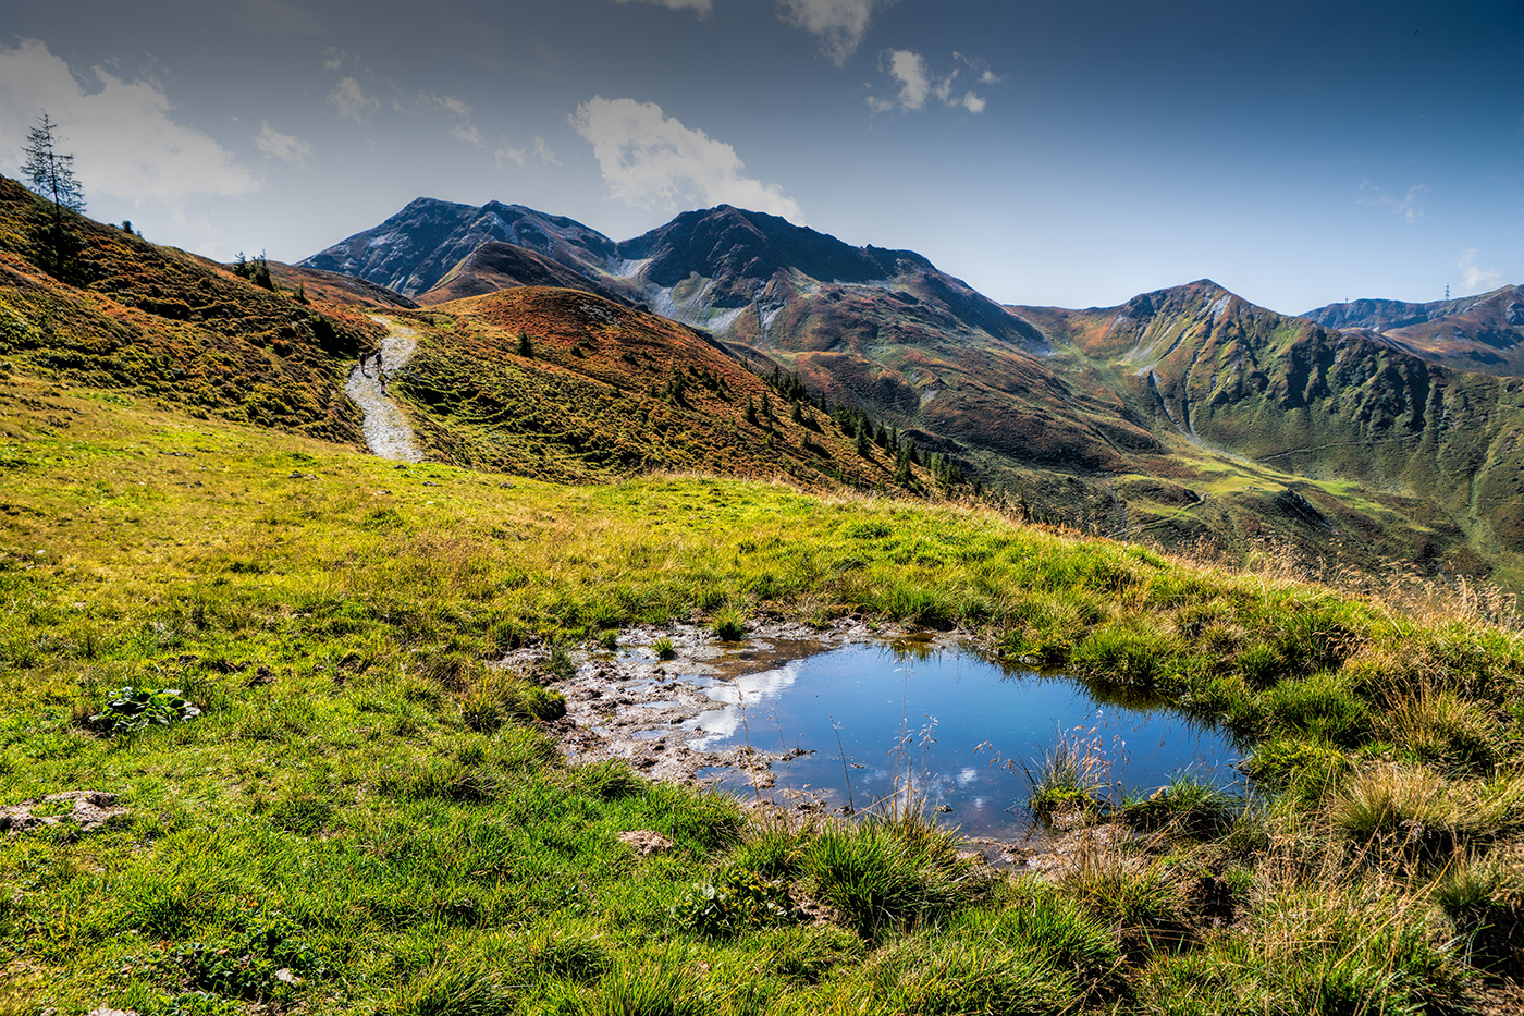
<instances>
[{"instance_id":1,"label":"entire blue-grey sky with scattered white clouds above the mountains","mask_svg":"<svg viewBox=\"0 0 1524 1016\"><path fill-rule=\"evenodd\" d=\"M1524 284L1524 2L52 0L0 24L88 214L297 261L416 197L721 203L1004 304Z\"/></svg>"}]
</instances>

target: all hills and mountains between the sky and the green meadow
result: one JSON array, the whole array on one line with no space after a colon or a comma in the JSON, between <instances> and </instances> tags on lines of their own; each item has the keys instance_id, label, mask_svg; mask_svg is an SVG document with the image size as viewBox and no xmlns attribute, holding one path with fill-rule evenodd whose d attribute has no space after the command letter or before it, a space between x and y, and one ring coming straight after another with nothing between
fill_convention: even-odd
<instances>
[{"instance_id":1,"label":"all hills and mountains between the sky and the green meadow","mask_svg":"<svg viewBox=\"0 0 1524 1016\"><path fill-rule=\"evenodd\" d=\"M0 178L0 355L59 383L358 442L340 392L381 316L418 334L392 391L439 461L983 493L1227 560L1524 583L1515 287L1305 316L1205 279L1006 307L914 252L730 206L617 243L425 198L261 287L70 223L55 276L47 207ZM1498 360L1468 366L1477 346Z\"/></svg>"}]
</instances>

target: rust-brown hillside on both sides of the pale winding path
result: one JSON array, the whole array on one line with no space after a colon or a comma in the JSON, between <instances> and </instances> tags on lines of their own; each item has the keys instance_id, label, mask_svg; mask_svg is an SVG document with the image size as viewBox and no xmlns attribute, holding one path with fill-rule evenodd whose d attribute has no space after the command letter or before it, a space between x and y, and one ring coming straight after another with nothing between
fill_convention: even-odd
<instances>
[{"instance_id":1,"label":"rust-brown hillside on both sides of the pale winding path","mask_svg":"<svg viewBox=\"0 0 1524 1016\"><path fill-rule=\"evenodd\" d=\"M55 278L37 267L52 264L49 221L47 206L0 178L0 354L59 381L358 442L343 380L378 343L376 316L390 314L419 331L393 394L437 461L559 481L648 470L817 490L893 481L892 450L860 450L855 432L692 330L599 296L521 288L419 311L381 287L290 265L270 265L261 287L78 215ZM936 487L920 465L910 485Z\"/></svg>"}]
</instances>

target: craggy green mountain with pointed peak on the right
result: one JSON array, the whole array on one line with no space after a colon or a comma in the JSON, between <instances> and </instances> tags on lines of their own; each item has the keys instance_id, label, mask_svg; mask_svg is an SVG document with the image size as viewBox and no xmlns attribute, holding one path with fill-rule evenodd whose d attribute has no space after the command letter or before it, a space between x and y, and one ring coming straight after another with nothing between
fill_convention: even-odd
<instances>
[{"instance_id":1,"label":"craggy green mountain with pointed peak on the right","mask_svg":"<svg viewBox=\"0 0 1524 1016\"><path fill-rule=\"evenodd\" d=\"M1445 540L1423 539L1440 520L1393 499L1431 502L1483 555L1524 548L1519 381L1452 371L1366 333L1285 317L1210 281L1114 308L1018 310L1076 355L1108 363L1155 432L1173 429L1202 450L1324 487L1366 485L1364 497L1416 523L1416 560L1442 555ZM1475 571L1472 558L1454 564Z\"/></svg>"}]
</instances>

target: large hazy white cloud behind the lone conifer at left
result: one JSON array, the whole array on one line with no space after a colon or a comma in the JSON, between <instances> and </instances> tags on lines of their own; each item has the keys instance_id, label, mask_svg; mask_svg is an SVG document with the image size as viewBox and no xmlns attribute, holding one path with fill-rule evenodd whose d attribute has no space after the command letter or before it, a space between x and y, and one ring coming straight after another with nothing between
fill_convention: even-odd
<instances>
[{"instance_id":1,"label":"large hazy white cloud behind the lone conifer at left","mask_svg":"<svg viewBox=\"0 0 1524 1016\"><path fill-rule=\"evenodd\" d=\"M90 76L87 93L69 64L37 40L0 46L0 163L20 166L21 139L47 110L75 156L85 197L98 191L178 207L200 195L259 189L261 180L221 145L175 121L158 82L126 82L102 67L91 67Z\"/></svg>"}]
</instances>

